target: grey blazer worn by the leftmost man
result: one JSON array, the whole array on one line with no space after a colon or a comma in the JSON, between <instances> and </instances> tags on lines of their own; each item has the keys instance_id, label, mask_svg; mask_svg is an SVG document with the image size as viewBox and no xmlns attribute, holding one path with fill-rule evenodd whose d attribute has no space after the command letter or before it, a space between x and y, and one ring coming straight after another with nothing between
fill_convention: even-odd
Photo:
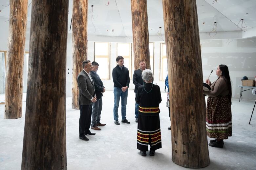
<instances>
[{"instance_id":1,"label":"grey blazer worn by the leftmost man","mask_svg":"<svg viewBox=\"0 0 256 170\"><path fill-rule=\"evenodd\" d=\"M94 83L84 70L77 76L77 84L79 88L79 105L91 105L91 99L95 96Z\"/></svg>"}]
</instances>

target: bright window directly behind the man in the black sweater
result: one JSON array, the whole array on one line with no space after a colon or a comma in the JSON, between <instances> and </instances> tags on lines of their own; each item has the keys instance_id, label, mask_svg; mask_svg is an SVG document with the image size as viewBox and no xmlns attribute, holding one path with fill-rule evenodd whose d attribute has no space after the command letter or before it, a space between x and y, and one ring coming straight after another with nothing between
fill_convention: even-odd
<instances>
[{"instance_id":1,"label":"bright window directly behind the man in the black sweater","mask_svg":"<svg viewBox=\"0 0 256 170\"><path fill-rule=\"evenodd\" d=\"M124 66L128 68L130 79L132 75L132 44L131 43L117 43L117 56L122 56L124 59Z\"/></svg>"}]
</instances>

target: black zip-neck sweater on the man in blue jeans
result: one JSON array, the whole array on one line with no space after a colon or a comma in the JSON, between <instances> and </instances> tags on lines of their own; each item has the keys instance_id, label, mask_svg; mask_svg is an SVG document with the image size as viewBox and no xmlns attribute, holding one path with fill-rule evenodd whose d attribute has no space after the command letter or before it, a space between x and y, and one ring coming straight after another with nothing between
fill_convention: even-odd
<instances>
[{"instance_id":1,"label":"black zip-neck sweater on the man in blue jeans","mask_svg":"<svg viewBox=\"0 0 256 170\"><path fill-rule=\"evenodd\" d=\"M114 87L125 87L130 84L130 76L129 76L129 70L128 68L124 67L121 69L119 65L115 68L113 68L112 71L112 77L113 77L113 82L114 82Z\"/></svg>"}]
</instances>

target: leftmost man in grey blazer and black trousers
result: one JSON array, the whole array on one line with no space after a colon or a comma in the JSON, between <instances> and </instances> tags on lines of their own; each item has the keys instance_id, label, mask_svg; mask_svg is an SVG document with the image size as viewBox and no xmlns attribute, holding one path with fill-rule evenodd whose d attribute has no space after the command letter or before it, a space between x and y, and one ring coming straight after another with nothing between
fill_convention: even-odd
<instances>
[{"instance_id":1,"label":"leftmost man in grey blazer and black trousers","mask_svg":"<svg viewBox=\"0 0 256 170\"><path fill-rule=\"evenodd\" d=\"M96 102L96 94L94 89L93 79L90 76L92 70L91 61L83 61L83 71L77 76L77 84L79 88L79 138L84 141L89 141L85 135L95 135L89 128L92 116L92 104Z\"/></svg>"}]
</instances>

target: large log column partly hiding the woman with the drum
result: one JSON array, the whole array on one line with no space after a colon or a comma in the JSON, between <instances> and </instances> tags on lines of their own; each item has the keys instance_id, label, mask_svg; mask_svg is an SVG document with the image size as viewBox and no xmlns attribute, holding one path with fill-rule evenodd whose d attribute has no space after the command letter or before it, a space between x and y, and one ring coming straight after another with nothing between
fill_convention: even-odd
<instances>
[{"instance_id":1,"label":"large log column partly hiding the woman with the drum","mask_svg":"<svg viewBox=\"0 0 256 170\"><path fill-rule=\"evenodd\" d=\"M172 161L189 168L209 165L203 71L196 0L162 0L165 30Z\"/></svg>"}]
</instances>

